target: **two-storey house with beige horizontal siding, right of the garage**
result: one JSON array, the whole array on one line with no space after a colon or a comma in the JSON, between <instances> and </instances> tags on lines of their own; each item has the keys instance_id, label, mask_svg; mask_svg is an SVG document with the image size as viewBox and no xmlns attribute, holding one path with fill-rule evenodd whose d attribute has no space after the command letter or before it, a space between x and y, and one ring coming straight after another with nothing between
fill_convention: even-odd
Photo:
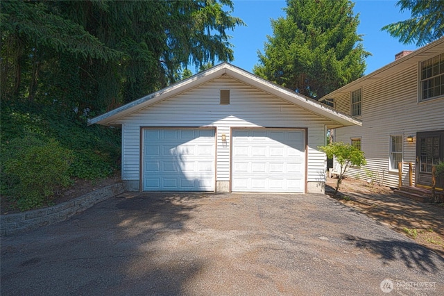
<instances>
[{"instance_id":1,"label":"two-storey house with beige horizontal siding, right of the garage","mask_svg":"<svg viewBox=\"0 0 444 296\"><path fill-rule=\"evenodd\" d=\"M412 179L411 186L431 187L432 166L444 161L444 38L403 51L393 63L321 101L362 122L334 131L334 141L365 152L367 165L351 167L346 175L393 188L399 179L402 186ZM436 182L442 190L443 180Z\"/></svg>"}]
</instances>

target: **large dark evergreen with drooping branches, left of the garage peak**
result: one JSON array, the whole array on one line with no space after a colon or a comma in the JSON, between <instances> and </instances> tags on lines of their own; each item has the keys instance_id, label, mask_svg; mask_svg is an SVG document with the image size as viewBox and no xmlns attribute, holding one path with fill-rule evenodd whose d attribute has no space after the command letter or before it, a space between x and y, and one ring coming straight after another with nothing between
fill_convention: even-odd
<instances>
[{"instance_id":1,"label":"large dark evergreen with drooping branches, left of the garage peak","mask_svg":"<svg viewBox=\"0 0 444 296\"><path fill-rule=\"evenodd\" d=\"M233 60L231 0L8 1L1 5L1 98L94 115ZM228 8L230 10L225 11Z\"/></svg>"}]
</instances>

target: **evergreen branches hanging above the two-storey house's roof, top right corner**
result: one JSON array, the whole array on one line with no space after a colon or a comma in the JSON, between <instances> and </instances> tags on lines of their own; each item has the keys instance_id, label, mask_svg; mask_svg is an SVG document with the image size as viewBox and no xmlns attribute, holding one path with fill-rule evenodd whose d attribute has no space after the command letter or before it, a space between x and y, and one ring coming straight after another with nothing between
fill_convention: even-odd
<instances>
[{"instance_id":1,"label":"evergreen branches hanging above the two-storey house's roof, top right corner","mask_svg":"<svg viewBox=\"0 0 444 296\"><path fill-rule=\"evenodd\" d=\"M411 10L411 18L382 27L404 44L416 42L418 47L444 35L444 1L400 0L400 11Z\"/></svg>"}]
</instances>

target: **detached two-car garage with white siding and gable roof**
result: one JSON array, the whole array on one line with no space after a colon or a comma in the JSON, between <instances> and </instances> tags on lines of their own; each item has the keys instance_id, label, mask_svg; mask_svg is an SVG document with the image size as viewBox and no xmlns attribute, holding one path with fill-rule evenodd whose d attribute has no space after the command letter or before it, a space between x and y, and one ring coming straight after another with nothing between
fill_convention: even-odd
<instances>
[{"instance_id":1,"label":"detached two-car garage with white siding and gable roof","mask_svg":"<svg viewBox=\"0 0 444 296\"><path fill-rule=\"evenodd\" d=\"M121 126L128 190L324 192L318 146L361 122L223 63L89 124Z\"/></svg>"}]
</instances>

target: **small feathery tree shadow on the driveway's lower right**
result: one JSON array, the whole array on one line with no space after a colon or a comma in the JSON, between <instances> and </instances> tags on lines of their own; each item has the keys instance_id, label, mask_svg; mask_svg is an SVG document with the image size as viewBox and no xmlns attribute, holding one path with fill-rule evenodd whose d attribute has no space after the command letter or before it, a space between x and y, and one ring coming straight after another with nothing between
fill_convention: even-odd
<instances>
[{"instance_id":1,"label":"small feathery tree shadow on the driveway's lower right","mask_svg":"<svg viewBox=\"0 0 444 296\"><path fill-rule=\"evenodd\" d=\"M370 240L345 233L343 233L343 238L352 242L356 247L367 249L379 256L384 264L391 261L401 261L407 268L419 268L425 272L435 273L443 270L444 258L442 256L413 241Z\"/></svg>"}]
</instances>

